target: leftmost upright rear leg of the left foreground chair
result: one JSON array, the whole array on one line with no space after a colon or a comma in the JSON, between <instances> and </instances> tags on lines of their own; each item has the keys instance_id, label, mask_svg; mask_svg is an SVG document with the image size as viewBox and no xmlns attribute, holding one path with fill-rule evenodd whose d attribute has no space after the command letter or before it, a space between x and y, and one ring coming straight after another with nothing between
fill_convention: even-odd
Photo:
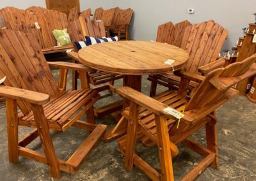
<instances>
[{"instance_id":1,"label":"leftmost upright rear leg of the left foreground chair","mask_svg":"<svg viewBox=\"0 0 256 181\"><path fill-rule=\"evenodd\" d=\"M8 154L10 163L19 162L17 101L6 99Z\"/></svg>"}]
</instances>

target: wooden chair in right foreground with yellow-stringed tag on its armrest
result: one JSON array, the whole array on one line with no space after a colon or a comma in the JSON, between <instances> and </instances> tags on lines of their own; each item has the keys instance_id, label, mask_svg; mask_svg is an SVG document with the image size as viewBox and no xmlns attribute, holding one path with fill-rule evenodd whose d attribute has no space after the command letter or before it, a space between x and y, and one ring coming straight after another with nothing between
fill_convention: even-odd
<instances>
[{"instance_id":1,"label":"wooden chair in right foreground with yellow-stringed tag on its armrest","mask_svg":"<svg viewBox=\"0 0 256 181\"><path fill-rule=\"evenodd\" d=\"M204 157L182 180L194 180L210 165L218 168L215 111L238 94L232 85L256 74L255 58L256 56L253 55L242 62L214 69L205 77L178 71L177 74L181 76L182 82L179 92L166 91L154 99L130 87L117 89L116 93L130 101L129 108L123 112L128 120L127 135L118 140L118 150L125 156L125 168L132 170L135 164L152 180L174 180L172 157L179 154L177 148L179 143ZM186 91L190 80L198 81L200 85L189 99ZM184 110L184 117L179 121L165 111L166 108L178 112ZM202 147L188 138L203 126L205 126L207 147ZM161 173L134 152L136 141L141 140L143 136L158 147Z\"/></svg>"}]
</instances>

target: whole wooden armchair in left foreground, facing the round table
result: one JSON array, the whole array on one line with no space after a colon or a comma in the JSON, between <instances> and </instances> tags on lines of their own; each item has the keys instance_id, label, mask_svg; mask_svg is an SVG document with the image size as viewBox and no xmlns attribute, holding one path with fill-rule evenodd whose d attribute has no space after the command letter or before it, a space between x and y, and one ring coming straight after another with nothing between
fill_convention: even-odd
<instances>
[{"instance_id":1,"label":"whole wooden armchair in left foreground, facing the round table","mask_svg":"<svg viewBox=\"0 0 256 181\"><path fill-rule=\"evenodd\" d=\"M59 85L56 85L49 66L60 68ZM80 76L84 77L81 90L65 91L68 69L80 71ZM19 156L33 159L47 164L53 178L60 178L60 171L76 172L106 129L106 126L94 123L92 106L100 96L86 82L88 71L90 68L81 64L47 63L32 34L0 29L0 76L6 76L4 85L0 85L0 96L6 98L11 163L18 163ZM21 112L17 111L17 106ZM79 120L84 113L87 122ZM19 140L18 126L36 128ZM70 126L91 133L76 152L63 161L56 157L49 129L65 131ZM44 153L26 148L38 136Z\"/></svg>"}]
</instances>

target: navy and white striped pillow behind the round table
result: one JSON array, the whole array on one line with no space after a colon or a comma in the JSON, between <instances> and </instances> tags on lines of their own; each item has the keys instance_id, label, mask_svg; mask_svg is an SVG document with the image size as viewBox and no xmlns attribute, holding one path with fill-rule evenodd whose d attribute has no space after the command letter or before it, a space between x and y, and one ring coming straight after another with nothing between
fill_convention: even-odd
<instances>
[{"instance_id":1,"label":"navy and white striped pillow behind the round table","mask_svg":"<svg viewBox=\"0 0 256 181\"><path fill-rule=\"evenodd\" d=\"M118 41L118 37L110 37L110 38L106 38L106 37L102 37L102 38L93 38L91 36L85 36L85 40L86 41L76 41L75 45L77 47L77 50L80 50L83 47L87 47L90 45L94 45L97 43L103 43L103 42L110 42L110 41Z\"/></svg>"}]
</instances>

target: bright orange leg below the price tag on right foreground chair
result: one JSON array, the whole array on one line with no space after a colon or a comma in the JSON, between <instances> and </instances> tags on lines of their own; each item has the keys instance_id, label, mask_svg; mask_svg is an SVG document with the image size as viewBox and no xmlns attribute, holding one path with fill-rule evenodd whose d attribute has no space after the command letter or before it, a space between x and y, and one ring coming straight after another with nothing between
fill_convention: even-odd
<instances>
[{"instance_id":1,"label":"bright orange leg below the price tag on right foreground chair","mask_svg":"<svg viewBox=\"0 0 256 181\"><path fill-rule=\"evenodd\" d=\"M159 117L159 115L155 115L156 120L156 129L157 129L157 137L159 140L158 144L158 152L161 163L161 172L162 178L161 180L174 180L173 176L173 168L172 168L172 155L170 148L170 138L168 134L168 126L166 124L166 119L163 117Z\"/></svg>"}]
</instances>

